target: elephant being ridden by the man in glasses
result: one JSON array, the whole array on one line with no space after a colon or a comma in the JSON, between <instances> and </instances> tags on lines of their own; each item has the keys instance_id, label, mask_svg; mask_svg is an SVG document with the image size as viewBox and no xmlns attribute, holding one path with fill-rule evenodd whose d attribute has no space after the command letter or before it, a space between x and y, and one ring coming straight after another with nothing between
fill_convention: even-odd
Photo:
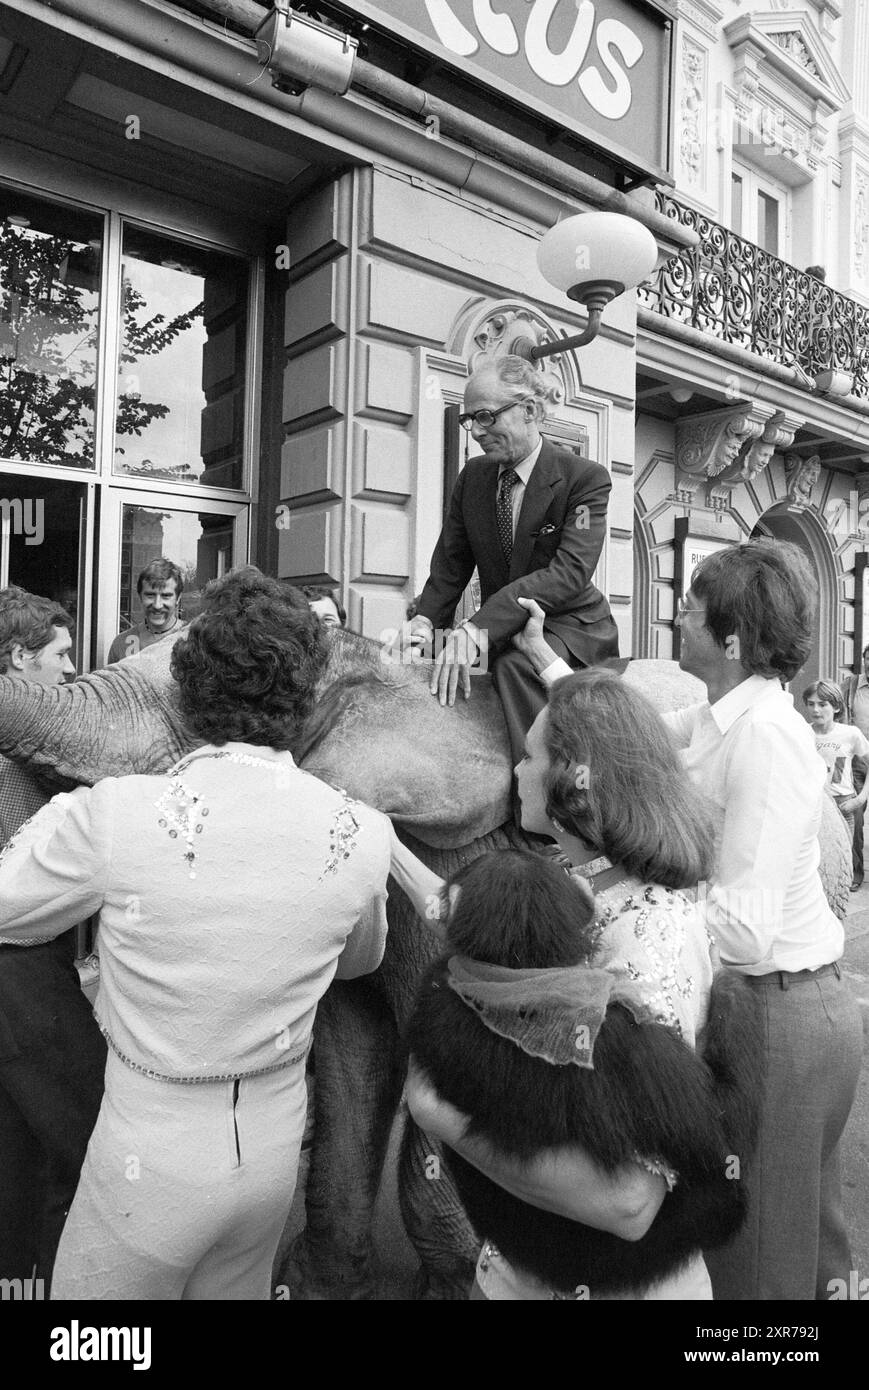
<instances>
[{"instance_id":1,"label":"elephant being ridden by the man in glasses","mask_svg":"<svg viewBox=\"0 0 869 1390\"><path fill-rule=\"evenodd\" d=\"M159 773L196 741L177 706L170 655L181 632L65 687L0 676L0 752L54 788L101 777ZM658 709L704 698L674 662L619 663ZM350 796L387 812L402 838L448 877L487 849L521 844L510 815L512 767L501 703L488 674L469 701L442 708L428 692L430 663L385 657L378 644L334 630L314 713L296 760ZM844 821L825 798L822 878L841 917L851 856ZM292 1297L371 1298L373 1209L399 1104L402 1029L421 972L439 945L398 891L389 892L384 960L360 980L335 981L314 1024L314 1140L307 1226L278 1273ZM449 1179L427 1179L431 1141L407 1125L399 1201L421 1261L417 1297L464 1298L478 1243Z\"/></svg>"}]
</instances>

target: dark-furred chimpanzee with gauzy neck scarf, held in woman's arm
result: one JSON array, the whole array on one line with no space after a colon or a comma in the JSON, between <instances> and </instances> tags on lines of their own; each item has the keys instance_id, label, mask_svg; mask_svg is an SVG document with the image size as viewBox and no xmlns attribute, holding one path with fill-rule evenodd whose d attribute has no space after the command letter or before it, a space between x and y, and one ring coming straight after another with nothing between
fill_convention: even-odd
<instances>
[{"instance_id":1,"label":"dark-furred chimpanzee with gauzy neck scarf, held in woman's arm","mask_svg":"<svg viewBox=\"0 0 869 1390\"><path fill-rule=\"evenodd\" d=\"M424 1074L495 1162L578 1147L599 1172L595 1188L642 1163L647 1176L677 1175L645 1230L605 1207L577 1225L453 1155L467 1213L488 1237L480 1297L505 1297L507 1258L512 1297L701 1297L708 1284L692 1289L685 1266L699 1270L701 1241L723 1244L744 1216L727 1158L748 1154L756 1130L756 1001L719 974L695 1055L637 980L594 965L594 902L580 881L517 851L482 855L453 878L448 954L425 973L409 1027L412 1105Z\"/></svg>"}]
</instances>

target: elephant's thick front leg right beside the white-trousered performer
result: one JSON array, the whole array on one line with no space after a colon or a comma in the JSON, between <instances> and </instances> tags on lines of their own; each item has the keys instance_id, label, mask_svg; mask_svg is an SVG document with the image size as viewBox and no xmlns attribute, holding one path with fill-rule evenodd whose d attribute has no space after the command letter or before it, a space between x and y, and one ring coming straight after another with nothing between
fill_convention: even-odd
<instances>
[{"instance_id":1,"label":"elephant's thick front leg right beside the white-trousered performer","mask_svg":"<svg viewBox=\"0 0 869 1390\"><path fill-rule=\"evenodd\" d=\"M373 1212L405 1066L370 979L336 980L320 1001L314 1066L307 1226L282 1282L292 1298L373 1298Z\"/></svg>"}]
</instances>

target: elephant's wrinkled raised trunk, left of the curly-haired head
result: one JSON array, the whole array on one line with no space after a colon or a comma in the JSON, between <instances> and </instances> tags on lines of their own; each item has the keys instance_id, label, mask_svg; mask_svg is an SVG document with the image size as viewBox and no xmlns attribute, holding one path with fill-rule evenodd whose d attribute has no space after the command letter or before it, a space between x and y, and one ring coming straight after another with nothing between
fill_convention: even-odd
<instances>
[{"instance_id":1,"label":"elephant's wrinkled raised trunk, left of the curly-haired head","mask_svg":"<svg viewBox=\"0 0 869 1390\"><path fill-rule=\"evenodd\" d=\"M53 785L171 767L200 742L184 727L170 674L178 635L71 685L0 676L0 753Z\"/></svg>"}]
</instances>

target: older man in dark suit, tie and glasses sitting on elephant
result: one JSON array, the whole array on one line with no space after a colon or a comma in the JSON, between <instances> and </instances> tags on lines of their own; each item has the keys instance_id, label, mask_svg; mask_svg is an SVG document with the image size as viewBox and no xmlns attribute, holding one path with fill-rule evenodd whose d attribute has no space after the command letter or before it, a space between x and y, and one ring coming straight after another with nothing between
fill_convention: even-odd
<instances>
[{"instance_id":1,"label":"older man in dark suit, tie and glasses sitting on elephant","mask_svg":"<svg viewBox=\"0 0 869 1390\"><path fill-rule=\"evenodd\" d=\"M512 645L526 621L521 599L546 613L546 641L573 669L619 655L609 603L591 584L606 535L606 468L541 436L546 386L523 357L494 359L470 378L460 424L482 448L459 474L431 559L417 614L405 624L414 645L432 641L431 692L455 703L488 649L513 760L545 703L531 663ZM455 609L477 567L481 606L453 628Z\"/></svg>"}]
</instances>

